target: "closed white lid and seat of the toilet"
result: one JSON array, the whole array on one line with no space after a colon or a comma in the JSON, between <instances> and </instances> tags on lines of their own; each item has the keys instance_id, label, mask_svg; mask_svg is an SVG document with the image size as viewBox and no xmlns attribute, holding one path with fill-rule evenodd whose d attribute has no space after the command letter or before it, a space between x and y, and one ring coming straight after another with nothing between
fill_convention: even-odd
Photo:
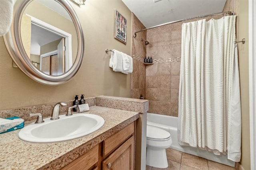
<instances>
[{"instance_id":1,"label":"closed white lid and seat of the toilet","mask_svg":"<svg viewBox=\"0 0 256 170\"><path fill-rule=\"evenodd\" d=\"M158 127L153 127L153 126L149 126L147 125L147 139L151 139L151 140L168 140L168 138L170 138L170 133L160 129Z\"/></svg>"}]
</instances>

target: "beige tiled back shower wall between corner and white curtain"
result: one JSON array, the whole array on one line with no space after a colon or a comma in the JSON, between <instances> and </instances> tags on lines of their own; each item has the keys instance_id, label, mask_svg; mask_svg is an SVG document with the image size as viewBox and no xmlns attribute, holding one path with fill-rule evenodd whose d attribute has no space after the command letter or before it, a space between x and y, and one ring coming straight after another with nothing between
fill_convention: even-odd
<instances>
[{"instance_id":1,"label":"beige tiled back shower wall between corner and white curtain","mask_svg":"<svg viewBox=\"0 0 256 170\"><path fill-rule=\"evenodd\" d=\"M147 30L147 56L154 61L146 66L145 92L150 113L178 116L181 25L173 23Z\"/></svg>"}]
</instances>

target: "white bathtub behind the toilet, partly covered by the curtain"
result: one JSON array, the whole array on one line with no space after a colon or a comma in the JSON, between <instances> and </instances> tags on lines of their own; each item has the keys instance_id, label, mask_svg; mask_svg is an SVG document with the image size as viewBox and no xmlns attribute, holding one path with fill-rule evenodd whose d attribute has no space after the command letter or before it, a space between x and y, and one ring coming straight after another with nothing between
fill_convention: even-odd
<instances>
[{"instance_id":1,"label":"white bathtub behind the toilet, partly covered by the curtain","mask_svg":"<svg viewBox=\"0 0 256 170\"><path fill-rule=\"evenodd\" d=\"M228 159L227 155L215 155L212 152L206 150L197 149L189 146L181 146L178 143L177 127L178 127L178 117L160 115L155 113L147 114L147 125L154 127L159 127L168 131L172 137L171 149L179 150L188 154L193 154L214 162L219 162L221 164L226 164L228 166L235 166L235 162Z\"/></svg>"}]
</instances>

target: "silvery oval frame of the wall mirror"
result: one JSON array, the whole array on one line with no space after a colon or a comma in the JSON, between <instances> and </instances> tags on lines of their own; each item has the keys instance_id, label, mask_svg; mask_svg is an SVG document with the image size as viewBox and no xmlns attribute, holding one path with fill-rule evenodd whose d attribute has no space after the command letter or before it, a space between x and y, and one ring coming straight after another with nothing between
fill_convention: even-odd
<instances>
[{"instance_id":1,"label":"silvery oval frame of the wall mirror","mask_svg":"<svg viewBox=\"0 0 256 170\"><path fill-rule=\"evenodd\" d=\"M22 70L22 72L26 74L26 76L30 77L32 80L50 86L64 84L74 77L76 72L78 72L83 61L84 35L82 27L80 25L80 22L78 20L78 17L76 16L74 9L69 4L68 0L54 0L61 4L66 9L66 11L73 20L78 37L78 51L74 64L67 72L58 76L51 76L49 74L45 74L44 72L38 70L30 61L28 55L24 50L21 40L20 24L22 15L24 13L24 10L31 1L33 0L17 0L15 2L12 25L10 27L9 32L6 33L6 35L4 35L4 43L6 45L6 49L8 50L10 57L18 66L18 68L20 68L20 70Z\"/></svg>"}]
</instances>

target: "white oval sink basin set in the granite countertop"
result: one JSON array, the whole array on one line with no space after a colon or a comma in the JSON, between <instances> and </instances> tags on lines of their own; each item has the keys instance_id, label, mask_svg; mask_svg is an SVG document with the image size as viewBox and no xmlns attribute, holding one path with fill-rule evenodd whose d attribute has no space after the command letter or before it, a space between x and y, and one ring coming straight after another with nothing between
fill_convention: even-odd
<instances>
[{"instance_id":1,"label":"white oval sink basin set in the granite countertop","mask_svg":"<svg viewBox=\"0 0 256 170\"><path fill-rule=\"evenodd\" d=\"M60 119L44 119L44 123L31 123L19 132L23 141L34 143L51 143L68 141L93 133L104 125L105 121L98 115L75 113L72 116L60 115Z\"/></svg>"}]
</instances>

